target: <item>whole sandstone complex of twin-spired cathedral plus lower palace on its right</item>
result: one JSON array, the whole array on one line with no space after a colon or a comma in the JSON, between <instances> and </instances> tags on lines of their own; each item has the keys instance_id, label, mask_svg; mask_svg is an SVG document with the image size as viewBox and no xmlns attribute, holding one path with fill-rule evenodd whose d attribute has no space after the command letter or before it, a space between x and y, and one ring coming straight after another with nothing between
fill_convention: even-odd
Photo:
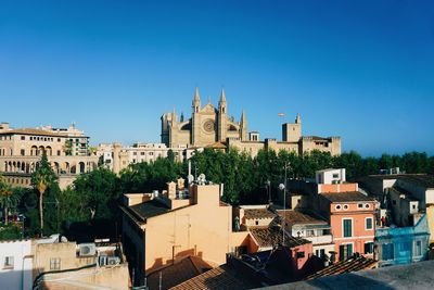
<instances>
[{"instance_id":1,"label":"whole sandstone complex of twin-spired cathedral plus lower palace on its right","mask_svg":"<svg viewBox=\"0 0 434 290\"><path fill-rule=\"evenodd\" d=\"M294 123L282 125L282 140L268 138L264 141L259 133L247 131L245 112L240 122L228 115L228 103L225 90L221 90L218 108L209 102L201 106L201 97L196 88L192 102L191 118L184 119L183 115L178 119L176 112L162 116L162 142L167 147L188 148L217 148L229 150L237 148L253 156L259 150L286 150L295 154L309 153L314 150L330 152L332 155L341 154L340 137L317 137L302 135L302 117L297 114Z\"/></svg>"}]
</instances>

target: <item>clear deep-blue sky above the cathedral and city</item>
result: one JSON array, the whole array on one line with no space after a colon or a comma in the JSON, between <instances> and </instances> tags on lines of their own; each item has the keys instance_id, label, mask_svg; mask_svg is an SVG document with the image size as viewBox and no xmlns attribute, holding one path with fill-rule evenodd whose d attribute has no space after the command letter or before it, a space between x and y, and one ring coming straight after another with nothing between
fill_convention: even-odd
<instances>
[{"instance_id":1,"label":"clear deep-blue sky above the cathedral and city","mask_svg":"<svg viewBox=\"0 0 434 290\"><path fill-rule=\"evenodd\" d=\"M434 154L434 1L0 1L0 121L158 141L194 87L248 129ZM285 119L278 113L286 113Z\"/></svg>"}]
</instances>

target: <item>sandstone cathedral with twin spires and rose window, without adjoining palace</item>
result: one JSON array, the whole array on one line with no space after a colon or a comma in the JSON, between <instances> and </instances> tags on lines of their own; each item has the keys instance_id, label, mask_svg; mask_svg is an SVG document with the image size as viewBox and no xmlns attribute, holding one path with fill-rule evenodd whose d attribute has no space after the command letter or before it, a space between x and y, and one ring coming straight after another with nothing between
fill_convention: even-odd
<instances>
[{"instance_id":1,"label":"sandstone cathedral with twin spires and rose window, without adjoining palace","mask_svg":"<svg viewBox=\"0 0 434 290\"><path fill-rule=\"evenodd\" d=\"M225 90L221 89L218 108L209 99L207 104L201 105L199 89L195 89L191 118L178 118L175 110L162 116L162 142L169 148L176 147L209 147L218 142L226 142L227 138L247 140L247 121L245 113L241 114L240 122L228 115L228 103Z\"/></svg>"}]
</instances>

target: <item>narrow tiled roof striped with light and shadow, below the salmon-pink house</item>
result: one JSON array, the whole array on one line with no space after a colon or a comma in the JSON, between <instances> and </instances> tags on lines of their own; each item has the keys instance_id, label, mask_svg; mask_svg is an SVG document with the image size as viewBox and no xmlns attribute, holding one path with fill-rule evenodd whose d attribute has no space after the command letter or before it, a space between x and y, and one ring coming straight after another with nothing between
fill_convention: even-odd
<instances>
[{"instance_id":1,"label":"narrow tiled roof striped with light and shadow, below the salmon-pink house","mask_svg":"<svg viewBox=\"0 0 434 290\"><path fill-rule=\"evenodd\" d=\"M320 277L331 276L331 275L339 275L349 272L357 272L363 269L372 269L378 266L379 262L372 259L368 259L365 256L359 257L350 257L346 261L339 262L333 264L320 272L317 272L314 275L310 275L306 278L306 280L317 279Z\"/></svg>"}]
</instances>

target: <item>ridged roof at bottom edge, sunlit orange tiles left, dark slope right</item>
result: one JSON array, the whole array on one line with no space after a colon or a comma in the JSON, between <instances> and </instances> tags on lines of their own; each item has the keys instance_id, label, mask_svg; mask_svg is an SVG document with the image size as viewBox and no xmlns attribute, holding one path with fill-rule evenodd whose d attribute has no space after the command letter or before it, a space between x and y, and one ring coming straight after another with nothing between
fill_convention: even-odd
<instances>
[{"instance_id":1,"label":"ridged roof at bottom edge, sunlit orange tiles left, dark slope right","mask_svg":"<svg viewBox=\"0 0 434 290\"><path fill-rule=\"evenodd\" d=\"M205 272L183 283L174 288L174 290L244 290L256 288L248 279L242 275L237 275L229 266L222 265L217 268Z\"/></svg>"}]
</instances>

